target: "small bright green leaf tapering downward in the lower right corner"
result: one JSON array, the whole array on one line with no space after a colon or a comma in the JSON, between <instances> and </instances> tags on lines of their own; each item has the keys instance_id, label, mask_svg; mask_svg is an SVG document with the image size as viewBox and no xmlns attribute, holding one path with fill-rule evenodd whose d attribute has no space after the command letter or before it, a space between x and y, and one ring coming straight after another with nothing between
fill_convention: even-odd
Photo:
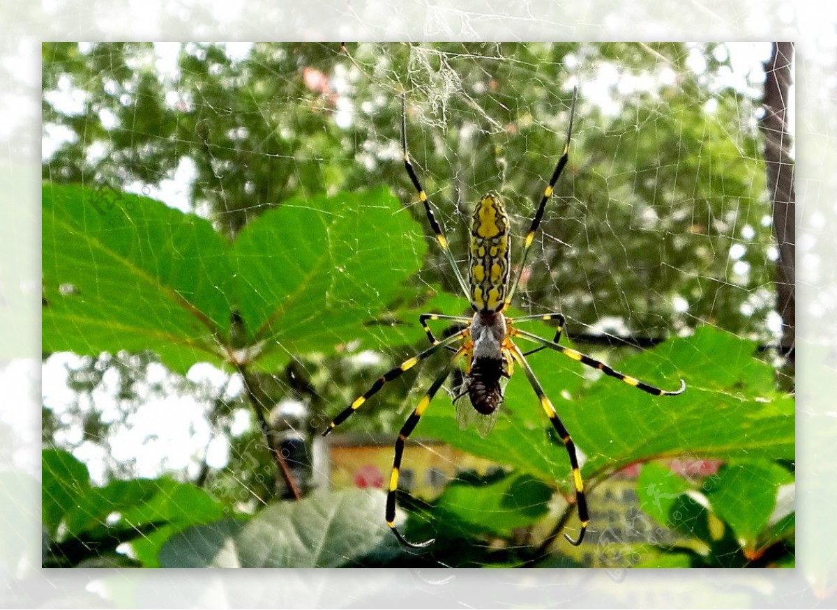
<instances>
[{"instance_id":1,"label":"small bright green leaf tapering downward in the lower right corner","mask_svg":"<svg viewBox=\"0 0 837 610\"><path fill-rule=\"evenodd\" d=\"M706 496L716 515L732 527L743 546L752 549L776 508L779 486L792 480L777 464L729 464L711 479Z\"/></svg>"}]
</instances>

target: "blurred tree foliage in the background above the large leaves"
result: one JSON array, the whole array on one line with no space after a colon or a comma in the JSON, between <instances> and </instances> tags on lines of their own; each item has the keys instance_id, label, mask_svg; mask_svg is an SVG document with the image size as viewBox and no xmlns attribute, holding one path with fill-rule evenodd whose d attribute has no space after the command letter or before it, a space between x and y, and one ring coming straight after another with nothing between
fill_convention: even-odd
<instances>
[{"instance_id":1,"label":"blurred tree foliage in the background above the large leaves","mask_svg":"<svg viewBox=\"0 0 837 610\"><path fill-rule=\"evenodd\" d=\"M187 204L223 233L290 197L388 184L413 202L399 163L405 90L412 155L461 259L456 244L485 191L501 192L526 228L567 129L566 64L581 62L569 166L523 302L578 326L614 318L666 336L708 321L768 342L757 101L725 78L732 64L716 47L359 44L350 58L335 44L255 44L231 59L223 46L184 44L162 72L150 44L44 44L44 126L69 130L44 177L156 187L193 167ZM706 71L687 65L694 54ZM585 78L601 95L585 97ZM83 94L64 110L70 89ZM363 239L377 235L370 227ZM422 278L453 289L433 253Z\"/></svg>"}]
</instances>

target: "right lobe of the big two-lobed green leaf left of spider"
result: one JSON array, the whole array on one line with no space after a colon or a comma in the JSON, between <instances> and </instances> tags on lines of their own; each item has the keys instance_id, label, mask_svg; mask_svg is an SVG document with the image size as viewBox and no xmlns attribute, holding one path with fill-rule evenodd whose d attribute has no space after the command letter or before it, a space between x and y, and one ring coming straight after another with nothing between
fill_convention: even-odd
<instances>
[{"instance_id":1,"label":"right lobe of the big two-lobed green leaf left of spider","mask_svg":"<svg viewBox=\"0 0 837 610\"><path fill-rule=\"evenodd\" d=\"M363 324L419 270L425 250L419 226L387 188L284 202L234 245L248 336L281 358L366 338Z\"/></svg>"}]
</instances>

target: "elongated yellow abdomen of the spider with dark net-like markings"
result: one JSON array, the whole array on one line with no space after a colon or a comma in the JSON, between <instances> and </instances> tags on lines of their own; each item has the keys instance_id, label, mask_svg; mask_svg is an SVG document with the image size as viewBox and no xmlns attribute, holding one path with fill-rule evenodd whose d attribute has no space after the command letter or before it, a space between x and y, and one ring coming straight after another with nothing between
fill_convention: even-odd
<instances>
[{"instance_id":1,"label":"elongated yellow abdomen of the spider with dark net-like markings","mask_svg":"<svg viewBox=\"0 0 837 610\"><path fill-rule=\"evenodd\" d=\"M511 270L509 216L490 192L477 202L471 218L469 282L471 306L480 313L503 309Z\"/></svg>"}]
</instances>

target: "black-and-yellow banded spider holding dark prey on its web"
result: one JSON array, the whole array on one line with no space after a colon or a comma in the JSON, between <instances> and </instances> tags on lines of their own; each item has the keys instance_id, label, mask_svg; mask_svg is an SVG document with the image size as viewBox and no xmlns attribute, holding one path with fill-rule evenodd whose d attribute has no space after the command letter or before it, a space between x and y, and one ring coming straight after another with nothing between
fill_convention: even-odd
<instances>
[{"instance_id":1,"label":"black-and-yellow banded spider holding dark prey on its web","mask_svg":"<svg viewBox=\"0 0 837 610\"><path fill-rule=\"evenodd\" d=\"M442 228L436 221L433 209L430 207L427 193L424 192L424 187L419 182L419 177L413 169L413 164L410 162L407 148L406 102L402 95L401 145L403 149L404 167L407 170L410 181L413 182L413 187L419 193L419 200L424 204L424 211L427 213L430 228L433 229L439 246L447 257L451 268L454 270L454 275L460 284L460 288L468 300L470 300L470 306L474 310L474 315L472 317L435 314L420 315L419 323L424 328L424 332L427 334L431 346L417 356L403 361L398 367L384 373L383 377L377 379L366 393L357 397L352 404L337 414L336 418L334 418L323 433L323 436L326 436L336 426L346 421L363 403L377 394L386 383L400 377L404 372L407 372L419 364L419 362L424 361L424 359L440 350L447 349L454 352L452 358L439 373L438 377L435 378L427 392L419 400L419 404L413 409L413 413L410 414L407 421L403 424L401 431L398 433L398 439L395 441L395 456L389 480L385 518L393 534L405 546L423 548L432 544L434 540L431 539L420 543L409 542L404 539L395 526L395 495L398 490L398 471L401 468L404 443L406 443L410 433L413 432L419 423L419 419L428 408L436 392L439 391L439 388L442 387L444 381L454 371L454 367L456 367L461 359L465 358L465 388L460 394L460 397L467 394L470 398L470 406L478 414L475 416L478 418L478 422L481 416L481 423L478 423L478 432L482 436L490 432L490 428L493 426L498 408L503 401L504 384L511 377L515 363L523 369L523 372L526 374L526 379L528 379L532 389L535 391L544 413L546 413L547 418L552 423L552 427L555 428L558 437L562 439L564 448L567 449L567 454L569 455L581 529L578 532L578 538L575 540L567 534L564 534L564 537L574 546L581 544L589 524L587 501L584 499L584 484L581 470L578 468L578 454L576 453L575 444L567 432L567 428L564 427L561 418L558 417L555 408L552 406L552 401L547 397L541 387L541 383L535 377L535 373L529 366L528 361L526 361L526 356L543 349L558 351L564 356L579 361L588 367L596 368L605 375L615 377L627 383L629 386L639 388L655 396L673 396L680 394L686 389L686 382L681 379L680 389L673 392L661 390L659 387L650 386L645 382L639 381L639 379L614 371L613 368L608 367L603 362L595 360L579 351L558 345L564 326L564 317L559 313L525 315L518 318L509 318L503 314L511 304L511 297L514 295L517 284L520 282L521 274L526 264L526 256L529 254L535 233L537 233L537 228L540 226L547 202L552 197L552 189L555 187L558 178L561 177L562 171L567 165L570 140L573 135L573 115L575 114L577 99L578 88L573 90L573 102L570 107L567 139L564 142L562 156L558 159L555 170L552 172L552 177L549 179L547 187L543 191L537 212L531 221L528 233L526 233L520 266L515 280L510 283L511 248L509 217L501 198L496 193L489 192L480 201L476 202L474 212L471 216L468 281L465 282L465 279L460 273L459 266L456 264L454 255L450 252L448 240L444 237ZM428 321L432 320L447 320L454 325L458 324L464 327L462 330L444 339L437 339L428 326ZM556 320L557 331L555 337L552 341L548 341L540 336L521 331L516 327L517 322L526 320ZM513 341L515 338L531 341L537 344L537 347L531 351L523 352ZM467 408L467 403L465 404L466 408L457 406L457 417L460 418L460 423L463 423L466 415L474 417L473 412L470 412L470 409Z\"/></svg>"}]
</instances>

